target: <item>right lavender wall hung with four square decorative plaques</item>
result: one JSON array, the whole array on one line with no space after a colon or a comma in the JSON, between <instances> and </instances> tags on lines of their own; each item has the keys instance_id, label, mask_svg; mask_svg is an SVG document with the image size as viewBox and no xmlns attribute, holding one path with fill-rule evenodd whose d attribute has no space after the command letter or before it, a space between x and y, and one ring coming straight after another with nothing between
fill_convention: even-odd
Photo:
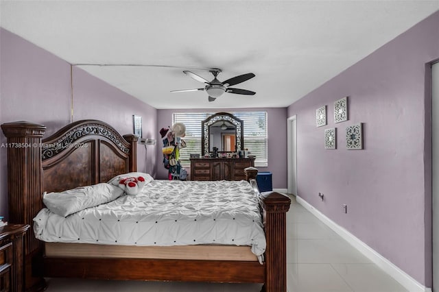
<instances>
[{"instance_id":1,"label":"right lavender wall hung with four square decorative plaques","mask_svg":"<svg viewBox=\"0 0 439 292\"><path fill-rule=\"evenodd\" d=\"M287 108L288 116L297 115L298 195L426 287L431 88L425 64L439 58L438 27L436 12ZM333 102L345 96L349 120L334 123ZM324 105L328 125L316 127L316 108ZM364 123L364 150L346 150L345 128L353 123ZM329 127L337 128L335 150L324 149Z\"/></svg>"}]
</instances>

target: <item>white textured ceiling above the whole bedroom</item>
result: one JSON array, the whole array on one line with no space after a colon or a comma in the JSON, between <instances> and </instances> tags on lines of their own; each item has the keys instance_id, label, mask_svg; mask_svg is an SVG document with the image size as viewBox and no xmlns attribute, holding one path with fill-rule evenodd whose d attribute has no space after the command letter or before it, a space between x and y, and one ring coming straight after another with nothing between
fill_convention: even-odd
<instances>
[{"instance_id":1,"label":"white textured ceiling above the whole bedroom","mask_svg":"<svg viewBox=\"0 0 439 292\"><path fill-rule=\"evenodd\" d=\"M4 1L1 27L155 108L285 107L439 10L439 1ZM214 102L169 93L252 72ZM74 78L74 76L73 76Z\"/></svg>"}]
</instances>

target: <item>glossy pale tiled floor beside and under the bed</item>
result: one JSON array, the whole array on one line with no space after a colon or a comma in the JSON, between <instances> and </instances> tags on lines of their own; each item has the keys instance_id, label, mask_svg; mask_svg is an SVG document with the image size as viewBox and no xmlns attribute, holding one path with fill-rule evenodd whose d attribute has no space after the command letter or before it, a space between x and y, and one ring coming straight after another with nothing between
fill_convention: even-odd
<instances>
[{"instance_id":1,"label":"glossy pale tiled floor beside and under the bed","mask_svg":"<svg viewBox=\"0 0 439 292\"><path fill-rule=\"evenodd\" d=\"M287 213L289 292L407 291L292 199ZM259 292L260 284L47 279L47 292Z\"/></svg>"}]
</instances>

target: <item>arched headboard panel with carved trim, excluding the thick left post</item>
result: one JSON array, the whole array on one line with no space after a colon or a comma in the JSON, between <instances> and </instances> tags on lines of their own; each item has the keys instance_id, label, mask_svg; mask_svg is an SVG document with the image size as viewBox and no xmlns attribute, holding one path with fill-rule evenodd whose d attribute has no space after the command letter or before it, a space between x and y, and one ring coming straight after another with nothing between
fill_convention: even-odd
<instances>
[{"instance_id":1,"label":"arched headboard panel with carved trim, excluding the thick left post","mask_svg":"<svg viewBox=\"0 0 439 292\"><path fill-rule=\"evenodd\" d=\"M137 136L120 136L102 121L71 123L43 139L43 191L107 182L137 170ZM65 171L65 170L68 171Z\"/></svg>"}]
</instances>

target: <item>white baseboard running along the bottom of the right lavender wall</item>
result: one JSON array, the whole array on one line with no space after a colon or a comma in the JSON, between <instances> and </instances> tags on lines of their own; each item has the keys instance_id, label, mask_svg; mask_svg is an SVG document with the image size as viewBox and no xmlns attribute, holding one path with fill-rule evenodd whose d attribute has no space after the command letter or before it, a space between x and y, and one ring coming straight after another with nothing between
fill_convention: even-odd
<instances>
[{"instance_id":1,"label":"white baseboard running along the bottom of the right lavender wall","mask_svg":"<svg viewBox=\"0 0 439 292\"><path fill-rule=\"evenodd\" d=\"M383 269L392 278L394 278L401 285L403 285L405 289L407 289L410 292L431 292L431 288L425 287L423 284L420 284L410 275L405 273L405 271L399 269L399 267L396 267L396 265L391 263L390 260L384 258L383 256L381 256L381 254L379 254L371 247L366 245L366 243L360 241L357 237L351 234L351 232L348 232L348 230L342 228L337 223L335 223L334 221L323 215L322 212L311 206L304 199L302 199L299 196L296 196L296 201L298 202L298 204L302 205L305 209L309 210L309 212L311 212L313 215L318 217L318 219L320 219L323 223L329 226L329 228L331 228L337 234L342 236L342 238L348 241L348 243L351 243L351 245L353 245L353 247L359 250L361 254L364 254L364 256L372 260L373 263L375 263L378 267Z\"/></svg>"}]
</instances>

